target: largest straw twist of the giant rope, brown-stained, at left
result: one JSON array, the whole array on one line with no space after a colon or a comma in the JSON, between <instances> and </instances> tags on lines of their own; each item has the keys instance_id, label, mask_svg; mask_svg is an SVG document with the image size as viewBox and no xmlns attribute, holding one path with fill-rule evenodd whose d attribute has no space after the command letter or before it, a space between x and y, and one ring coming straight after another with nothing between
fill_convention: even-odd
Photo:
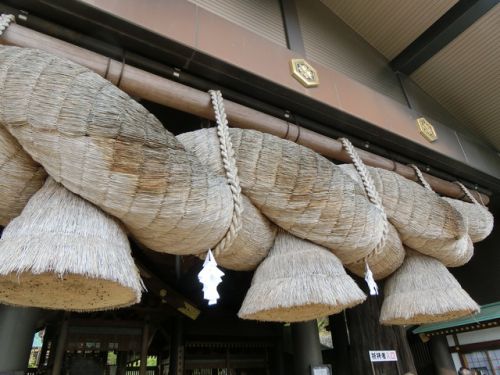
<instances>
[{"instance_id":1,"label":"largest straw twist of the giant rope, brown-stained, at left","mask_svg":"<svg viewBox=\"0 0 500 375\"><path fill-rule=\"evenodd\" d=\"M225 179L110 82L45 52L0 47L0 88L0 121L33 159L147 247L196 254L225 235Z\"/></svg>"}]
</instances>

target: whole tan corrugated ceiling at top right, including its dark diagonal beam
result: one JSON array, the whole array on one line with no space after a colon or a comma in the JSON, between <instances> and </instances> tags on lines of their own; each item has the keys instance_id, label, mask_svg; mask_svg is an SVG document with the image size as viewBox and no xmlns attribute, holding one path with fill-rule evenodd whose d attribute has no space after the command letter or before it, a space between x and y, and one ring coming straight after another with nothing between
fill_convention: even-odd
<instances>
[{"instance_id":1,"label":"whole tan corrugated ceiling at top right, including its dark diagonal beam","mask_svg":"<svg viewBox=\"0 0 500 375\"><path fill-rule=\"evenodd\" d=\"M500 2L321 0L455 118L500 150Z\"/></svg>"}]
</instances>

